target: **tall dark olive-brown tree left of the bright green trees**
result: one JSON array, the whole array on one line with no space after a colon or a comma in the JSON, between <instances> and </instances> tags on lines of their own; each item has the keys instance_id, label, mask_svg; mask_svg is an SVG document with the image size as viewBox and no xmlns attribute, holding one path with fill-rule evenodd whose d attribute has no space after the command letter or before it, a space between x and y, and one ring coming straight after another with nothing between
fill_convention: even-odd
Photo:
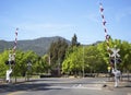
<instances>
[{"instance_id":1,"label":"tall dark olive-brown tree left of the bright green trees","mask_svg":"<svg viewBox=\"0 0 131 95\"><path fill-rule=\"evenodd\" d=\"M59 75L61 70L61 63L64 60L66 50L68 48L68 43L64 39L58 39L50 45L49 56L51 63L52 74Z\"/></svg>"}]
</instances>

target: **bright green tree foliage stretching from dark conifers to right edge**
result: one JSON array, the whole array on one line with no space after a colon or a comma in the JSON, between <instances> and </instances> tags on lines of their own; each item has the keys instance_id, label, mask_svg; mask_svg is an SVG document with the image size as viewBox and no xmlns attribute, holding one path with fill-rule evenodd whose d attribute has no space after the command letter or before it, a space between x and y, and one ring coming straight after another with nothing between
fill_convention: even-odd
<instances>
[{"instance_id":1,"label":"bright green tree foliage stretching from dark conifers to right edge","mask_svg":"<svg viewBox=\"0 0 131 95\"><path fill-rule=\"evenodd\" d=\"M109 46L110 48L116 46L117 49L120 49L118 54L122 61L117 63L117 68L121 71L131 71L131 44L119 39L110 39ZM79 74L80 72L82 73L83 67L85 73L107 72L107 68L110 66L109 59L106 41L93 46L69 48L66 54L66 60L62 63L62 72Z\"/></svg>"}]
</instances>

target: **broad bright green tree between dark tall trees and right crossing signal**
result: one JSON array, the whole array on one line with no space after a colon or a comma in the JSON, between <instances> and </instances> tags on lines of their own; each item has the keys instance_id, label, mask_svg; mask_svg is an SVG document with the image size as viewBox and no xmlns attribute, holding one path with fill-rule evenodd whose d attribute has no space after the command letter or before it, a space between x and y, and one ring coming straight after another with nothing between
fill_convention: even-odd
<instances>
[{"instance_id":1,"label":"broad bright green tree between dark tall trees and right crossing signal","mask_svg":"<svg viewBox=\"0 0 131 95\"><path fill-rule=\"evenodd\" d=\"M105 63L97 46L73 47L73 52L67 51L66 60L62 63L62 72L79 74L83 72L106 72Z\"/></svg>"}]
</instances>

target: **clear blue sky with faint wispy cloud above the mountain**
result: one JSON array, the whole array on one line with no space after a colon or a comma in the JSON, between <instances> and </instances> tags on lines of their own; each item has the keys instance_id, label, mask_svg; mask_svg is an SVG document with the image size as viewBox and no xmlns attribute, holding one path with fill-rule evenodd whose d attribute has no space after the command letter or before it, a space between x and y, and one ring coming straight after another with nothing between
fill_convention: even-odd
<instances>
[{"instance_id":1,"label":"clear blue sky with faint wispy cloud above the mountain","mask_svg":"<svg viewBox=\"0 0 131 95\"><path fill-rule=\"evenodd\" d=\"M131 0L0 0L0 40L61 36L81 44L105 40L99 3L107 33L131 43Z\"/></svg>"}]
</instances>

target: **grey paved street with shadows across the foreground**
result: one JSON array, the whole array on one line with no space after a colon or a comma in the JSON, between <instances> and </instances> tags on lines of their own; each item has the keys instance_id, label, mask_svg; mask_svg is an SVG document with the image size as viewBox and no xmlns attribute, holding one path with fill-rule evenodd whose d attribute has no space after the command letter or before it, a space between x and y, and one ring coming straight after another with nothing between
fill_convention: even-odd
<instances>
[{"instance_id":1,"label":"grey paved street with shadows across the foreground","mask_svg":"<svg viewBox=\"0 0 131 95\"><path fill-rule=\"evenodd\" d=\"M1 84L0 95L131 95L131 86L106 83L107 78L45 78L17 84ZM104 85L106 87L103 87Z\"/></svg>"}]
</instances>

